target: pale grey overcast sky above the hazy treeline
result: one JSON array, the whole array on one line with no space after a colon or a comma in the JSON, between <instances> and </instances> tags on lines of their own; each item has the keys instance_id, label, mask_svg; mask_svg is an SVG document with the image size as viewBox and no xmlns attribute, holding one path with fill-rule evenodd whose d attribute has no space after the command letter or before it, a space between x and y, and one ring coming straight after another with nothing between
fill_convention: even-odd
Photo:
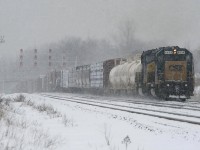
<instances>
[{"instance_id":1,"label":"pale grey overcast sky above the hazy treeline","mask_svg":"<svg viewBox=\"0 0 200 150\"><path fill-rule=\"evenodd\" d=\"M141 40L200 46L200 0L0 0L0 55L66 36L111 39L125 20Z\"/></svg>"}]
</instances>

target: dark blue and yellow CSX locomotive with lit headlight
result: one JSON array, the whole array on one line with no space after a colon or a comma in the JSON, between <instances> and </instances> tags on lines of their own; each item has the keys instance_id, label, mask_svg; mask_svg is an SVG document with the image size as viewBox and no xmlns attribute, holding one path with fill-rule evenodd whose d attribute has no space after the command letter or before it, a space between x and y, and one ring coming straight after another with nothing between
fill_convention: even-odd
<instances>
[{"instance_id":1,"label":"dark blue and yellow CSX locomotive with lit headlight","mask_svg":"<svg viewBox=\"0 0 200 150\"><path fill-rule=\"evenodd\" d=\"M187 49L174 46L143 52L142 67L143 92L164 99L193 95L193 56Z\"/></svg>"}]
</instances>

